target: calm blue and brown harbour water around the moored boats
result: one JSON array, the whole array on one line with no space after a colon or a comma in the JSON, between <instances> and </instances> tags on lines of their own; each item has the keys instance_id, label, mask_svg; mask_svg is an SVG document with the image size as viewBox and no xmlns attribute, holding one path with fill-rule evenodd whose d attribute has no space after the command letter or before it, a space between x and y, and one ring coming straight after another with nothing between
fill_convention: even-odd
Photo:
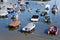
<instances>
[{"instance_id":1,"label":"calm blue and brown harbour water around the moored boats","mask_svg":"<svg viewBox=\"0 0 60 40\"><path fill-rule=\"evenodd\" d=\"M17 3L17 1L15 1ZM32 13L29 13L28 8L19 14L19 20L21 25L17 29L9 29L8 25L13 22L10 19L10 15L8 15L8 19L0 19L0 40L60 40L60 0L56 0L56 4L58 7L58 13L56 15L52 14L51 8L55 4L55 0L51 0L49 2L42 2L38 4L34 1L29 1L30 8L32 9ZM50 4L50 12L48 15L51 17L51 23L44 23L43 18L40 16L41 12L44 11L44 7L46 4ZM18 5L19 6L19 5ZM40 12L36 13L35 10L39 8ZM31 33L22 33L20 30L25 27L28 23L30 23L31 16L37 14L39 15L39 21L35 23L36 27ZM47 29L55 25L59 28L58 36L47 35Z\"/></svg>"}]
</instances>

